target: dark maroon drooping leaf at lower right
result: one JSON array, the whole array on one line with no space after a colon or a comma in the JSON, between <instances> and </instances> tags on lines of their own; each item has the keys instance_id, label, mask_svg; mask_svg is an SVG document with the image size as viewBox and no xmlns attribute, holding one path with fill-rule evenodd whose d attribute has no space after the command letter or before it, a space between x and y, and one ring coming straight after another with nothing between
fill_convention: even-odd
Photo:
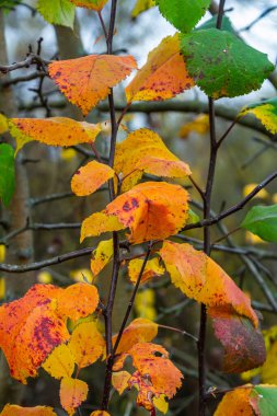
<instances>
[{"instance_id":1,"label":"dark maroon drooping leaf at lower right","mask_svg":"<svg viewBox=\"0 0 277 416\"><path fill-rule=\"evenodd\" d=\"M223 370L242 372L259 367L266 359L265 343L251 322L224 308L209 308L216 337L224 347Z\"/></svg>"}]
</instances>

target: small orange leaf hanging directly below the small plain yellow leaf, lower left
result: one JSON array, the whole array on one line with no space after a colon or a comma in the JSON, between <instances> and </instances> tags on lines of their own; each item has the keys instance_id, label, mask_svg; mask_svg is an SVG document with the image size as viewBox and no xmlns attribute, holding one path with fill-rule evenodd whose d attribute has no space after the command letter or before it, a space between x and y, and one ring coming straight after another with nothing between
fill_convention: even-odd
<instances>
[{"instance_id":1,"label":"small orange leaf hanging directly below the small plain yellow leaf, lower left","mask_svg":"<svg viewBox=\"0 0 277 416\"><path fill-rule=\"evenodd\" d=\"M88 384L79 379L65 378L60 382L60 404L69 416L73 416L76 408L85 401L89 392Z\"/></svg>"}]
</instances>

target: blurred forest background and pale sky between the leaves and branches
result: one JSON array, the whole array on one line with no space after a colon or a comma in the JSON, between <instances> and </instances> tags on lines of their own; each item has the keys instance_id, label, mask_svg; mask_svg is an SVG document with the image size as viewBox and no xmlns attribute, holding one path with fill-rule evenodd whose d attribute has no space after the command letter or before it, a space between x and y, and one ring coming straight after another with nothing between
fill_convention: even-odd
<instances>
[{"instance_id":1,"label":"blurred forest background and pale sky between the leaves and branches","mask_svg":"<svg viewBox=\"0 0 277 416\"><path fill-rule=\"evenodd\" d=\"M131 19L135 0L120 0L116 23L114 48L117 54L128 53L138 60L139 67L147 59L147 54L174 28L158 13L155 8ZM74 58L78 56L105 53L105 42L93 12L78 10L74 32L61 26L47 24L33 9L34 2L23 1L5 13L0 9L0 65L8 65L25 58L28 45L36 51L37 42L45 59L59 57ZM276 7L276 8L275 8ZM247 28L264 11L273 8L263 19ZM253 47L269 55L273 62L277 58L277 2L272 0L229 0L227 15L240 35ZM107 19L108 7L104 9L104 20ZM210 19L207 13L205 20ZM203 23L201 22L201 23ZM39 41L42 38L42 41ZM9 117L48 117L70 116L82 119L77 108L69 105L58 92L54 82L38 74L35 68L13 71L9 77L1 74L0 111ZM21 77L28 81L21 82ZM277 77L272 82L266 81L258 92L234 100L219 100L217 108L217 131L222 135L240 108L262 99L276 96ZM118 107L124 104L123 88L116 89ZM175 103L175 104L174 104ZM207 102L200 91L178 95L173 102L152 105L140 103L125 118L130 130L140 127L155 129L164 139L166 146L181 159L189 163L194 177L204 186L207 175L208 125ZM171 109L171 111L169 111ZM88 117L89 122L108 119L107 105L102 103ZM197 120L197 123L195 123ZM258 123L247 118L247 126L236 125L222 146L217 166L212 209L219 212L223 207L238 203L251 190L252 184L259 183L276 170L277 142L276 137L266 135ZM124 132L119 134L125 137ZM101 154L108 152L109 128L97 139ZM5 137L1 138L7 140ZM90 147L77 146L70 149L50 148L37 142L28 143L21 150L16 159L16 190L9 209L0 210L0 244L5 245L5 254L1 249L1 262L24 265L41 262L64 253L80 249L80 222L90 213L103 209L108 201L107 189L91 197L78 198L71 194L70 180L76 170L92 157ZM186 184L188 187L189 185ZM200 200L194 189L192 208L201 216ZM277 184L273 183L263 190L251 205L277 204ZM255 301L253 305L263 313L262 327L268 328L276 323L276 309L266 291L269 291L277 303L277 252L276 245L258 241L257 238L239 229L224 238L229 231L235 230L245 210L223 221L220 228L212 229L212 256L232 276L243 290L251 292ZM223 238L222 238L223 235ZM201 231L186 234L196 247L201 247ZM220 241L219 241L220 240ZM82 247L95 247L97 240L85 241ZM139 249L138 249L139 250ZM25 274L1 275L1 301L9 301L22 296L36 281L54 282L60 286L83 279L91 279L90 255L71 262L65 262L42 270ZM97 278L103 299L106 298L111 268L107 267ZM127 276L122 276L118 287L114 313L115 331L122 322L129 299L130 284ZM262 289L261 289L262 287ZM274 294L275 293L275 294ZM275 310L274 310L275 309ZM197 335L199 308L195 302L184 298L163 277L142 287L136 301L135 315L157 320L164 325L188 331ZM197 403L197 355L195 345L180 334L161 330L159 336L163 345L171 351L171 358L184 373L182 390L171 404L169 415L194 415ZM47 404L59 407L58 383L49 380L46 373L31 380L28 386L8 379L1 357L0 371L0 405L21 403L25 406ZM220 371L222 350L213 339L209 327L207 361L208 386L227 389L243 383L239 375L226 375ZM90 403L95 408L101 401L103 389L103 368L85 370L82 374L91 386ZM135 393L134 393L135 394ZM116 394L115 394L116 396ZM143 409L134 407L130 394L119 401L114 397L112 414L118 416L145 415ZM84 408L84 415L93 409ZM209 412L212 413L213 405ZM88 411L88 412L86 412ZM60 415L62 415L62 411ZM85 413L86 412L86 413Z\"/></svg>"}]
</instances>

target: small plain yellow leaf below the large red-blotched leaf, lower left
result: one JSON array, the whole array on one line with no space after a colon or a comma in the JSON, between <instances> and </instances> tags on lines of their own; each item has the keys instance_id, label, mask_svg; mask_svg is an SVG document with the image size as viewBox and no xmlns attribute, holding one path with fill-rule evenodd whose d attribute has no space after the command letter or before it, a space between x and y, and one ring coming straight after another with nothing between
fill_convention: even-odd
<instances>
[{"instance_id":1,"label":"small plain yellow leaf below the large red-blotched leaf, lower left","mask_svg":"<svg viewBox=\"0 0 277 416\"><path fill-rule=\"evenodd\" d=\"M69 347L65 344L59 345L42 367L55 379L71 377L74 370L74 360Z\"/></svg>"}]
</instances>

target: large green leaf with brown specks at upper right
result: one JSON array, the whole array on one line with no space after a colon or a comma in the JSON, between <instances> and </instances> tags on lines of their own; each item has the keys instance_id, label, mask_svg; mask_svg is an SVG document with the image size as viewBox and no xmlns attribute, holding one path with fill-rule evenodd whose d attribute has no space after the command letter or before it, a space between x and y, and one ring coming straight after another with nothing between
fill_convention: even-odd
<instances>
[{"instance_id":1,"label":"large green leaf with brown specks at upper right","mask_svg":"<svg viewBox=\"0 0 277 416\"><path fill-rule=\"evenodd\" d=\"M265 54L217 28L181 35L181 48L189 76L213 99L257 90L274 70Z\"/></svg>"}]
</instances>

